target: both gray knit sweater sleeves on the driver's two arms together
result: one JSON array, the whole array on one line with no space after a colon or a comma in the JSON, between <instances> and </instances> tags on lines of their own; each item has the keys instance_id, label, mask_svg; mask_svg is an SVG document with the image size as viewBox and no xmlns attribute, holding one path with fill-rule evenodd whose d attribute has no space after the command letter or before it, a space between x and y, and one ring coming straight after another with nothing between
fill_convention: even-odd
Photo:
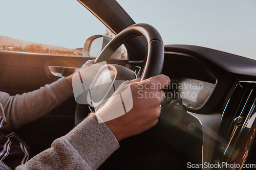
<instances>
[{"instance_id":1,"label":"both gray knit sweater sleeves on the driver's two arms together","mask_svg":"<svg viewBox=\"0 0 256 170\"><path fill-rule=\"evenodd\" d=\"M64 78L22 95L0 92L0 114L17 128L49 113L72 95ZM91 113L67 135L54 140L50 149L16 169L97 169L118 148L110 129Z\"/></svg>"}]
</instances>

